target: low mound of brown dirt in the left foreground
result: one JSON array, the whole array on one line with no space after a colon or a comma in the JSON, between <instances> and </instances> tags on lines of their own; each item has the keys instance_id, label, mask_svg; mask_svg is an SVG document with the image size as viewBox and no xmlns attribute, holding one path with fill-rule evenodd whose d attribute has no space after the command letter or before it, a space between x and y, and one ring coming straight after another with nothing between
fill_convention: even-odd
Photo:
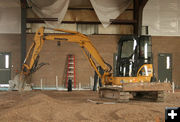
<instances>
[{"instance_id":1,"label":"low mound of brown dirt in the left foreground","mask_svg":"<svg viewBox=\"0 0 180 122\"><path fill-rule=\"evenodd\" d=\"M46 94L38 93L26 100L19 101L15 106L4 111L0 115L1 121L78 121L79 117L75 114L78 109L73 109L63 101L58 101ZM71 113L72 112L72 113Z\"/></svg>"}]
</instances>

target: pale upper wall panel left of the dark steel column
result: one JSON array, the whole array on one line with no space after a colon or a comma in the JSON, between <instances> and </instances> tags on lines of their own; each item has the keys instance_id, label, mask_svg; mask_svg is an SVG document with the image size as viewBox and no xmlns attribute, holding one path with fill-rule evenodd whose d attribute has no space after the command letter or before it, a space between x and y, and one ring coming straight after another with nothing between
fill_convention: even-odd
<instances>
[{"instance_id":1,"label":"pale upper wall panel left of the dark steel column","mask_svg":"<svg viewBox=\"0 0 180 122\"><path fill-rule=\"evenodd\" d=\"M0 33L21 33L19 0L0 0Z\"/></svg>"}]
</instances>

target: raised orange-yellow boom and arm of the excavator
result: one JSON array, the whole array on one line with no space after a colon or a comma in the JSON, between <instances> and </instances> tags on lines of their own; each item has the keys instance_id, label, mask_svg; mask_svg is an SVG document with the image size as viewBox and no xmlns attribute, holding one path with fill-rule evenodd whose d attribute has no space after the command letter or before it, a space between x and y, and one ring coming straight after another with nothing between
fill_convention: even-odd
<instances>
[{"instance_id":1,"label":"raised orange-yellow boom and arm of the excavator","mask_svg":"<svg viewBox=\"0 0 180 122\"><path fill-rule=\"evenodd\" d=\"M49 29L49 28L46 28ZM67 42L73 42L73 43L78 43L83 51L83 53L85 54L85 56L87 57L87 59L89 60L91 66L94 68L94 70L96 71L96 73L98 74L98 76L104 80L102 80L102 83L105 84L105 79L107 79L107 77L111 76L111 66L106 63L103 58L100 56L100 54L98 53L97 49L93 46L93 44L91 43L90 39L79 33L79 32L75 32L75 31L69 31L69 30L63 30L63 29L51 29L57 32L61 32L59 34L45 34L45 28L41 27L38 29L38 31L35 34L34 37L34 42L32 43L27 56L24 60L24 64L22 67L22 72L25 75L30 75L33 72L35 72L36 70L38 70L41 66L45 65L45 63L41 64L40 66L37 65L38 63L38 59L39 59L39 53L44 45L45 41L67 41ZM94 61L95 60L95 61ZM104 70L104 74L102 75L96 66L96 63L98 63L101 68Z\"/></svg>"}]
</instances>

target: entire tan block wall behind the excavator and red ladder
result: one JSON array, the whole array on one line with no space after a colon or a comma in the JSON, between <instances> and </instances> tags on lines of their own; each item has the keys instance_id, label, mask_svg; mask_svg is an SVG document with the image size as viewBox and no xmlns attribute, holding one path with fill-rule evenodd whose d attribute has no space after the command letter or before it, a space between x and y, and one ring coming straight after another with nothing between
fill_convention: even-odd
<instances>
[{"instance_id":1,"label":"entire tan block wall behind the excavator and red ladder","mask_svg":"<svg viewBox=\"0 0 180 122\"><path fill-rule=\"evenodd\" d=\"M27 35L28 47L33 36L33 34ZM104 60L112 65L113 53L116 52L116 43L120 37L116 35L92 35L89 37ZM158 53L172 53L173 81L180 86L180 37L153 36L152 45L156 76L158 76ZM13 65L11 77L14 77L15 70L20 69L20 35L0 34L0 52L11 52ZM42 67L33 75L34 85L39 86L40 79L43 78L44 85L55 86L56 75L59 77L59 84L62 85L66 55L70 53L76 56L77 82L82 85L89 84L89 77L94 75L94 70L79 45L61 42L61 46L58 47L56 42L49 41L44 44L39 62L48 62L50 65Z\"/></svg>"}]
</instances>

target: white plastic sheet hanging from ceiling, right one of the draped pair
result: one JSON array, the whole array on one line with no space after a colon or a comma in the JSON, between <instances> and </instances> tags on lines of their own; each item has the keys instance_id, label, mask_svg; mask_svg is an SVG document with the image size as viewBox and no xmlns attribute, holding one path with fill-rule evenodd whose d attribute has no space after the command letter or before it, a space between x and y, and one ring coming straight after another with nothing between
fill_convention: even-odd
<instances>
[{"instance_id":1,"label":"white plastic sheet hanging from ceiling, right one of the draped pair","mask_svg":"<svg viewBox=\"0 0 180 122\"><path fill-rule=\"evenodd\" d=\"M130 5L132 0L90 0L95 12L104 27L111 24Z\"/></svg>"}]
</instances>

